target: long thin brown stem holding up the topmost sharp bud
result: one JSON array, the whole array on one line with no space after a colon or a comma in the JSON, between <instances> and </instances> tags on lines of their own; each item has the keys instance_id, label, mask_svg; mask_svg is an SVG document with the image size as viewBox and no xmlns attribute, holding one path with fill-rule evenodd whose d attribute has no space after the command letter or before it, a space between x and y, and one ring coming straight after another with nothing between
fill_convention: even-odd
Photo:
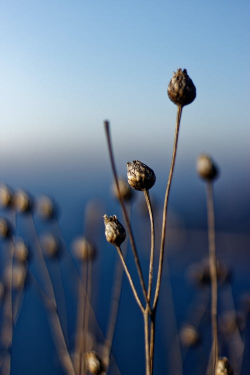
<instances>
[{"instance_id":1,"label":"long thin brown stem holding up the topmost sharp bud","mask_svg":"<svg viewBox=\"0 0 250 375\"><path fill-rule=\"evenodd\" d=\"M170 186L171 186L173 168L174 168L174 162L175 162L175 156L176 156L176 150L177 150L177 142L178 142L178 133L179 133L179 123L180 123L181 112L182 112L182 105L177 105L176 125L175 125L174 143L173 143L173 151L172 151L172 161L171 161L171 166L170 166L170 170L169 170L169 174L168 174L168 180L167 180L165 198L164 198L164 205L163 205L161 240L160 240L160 251L159 251L159 265L158 265L158 274L157 274L156 288L155 288L155 294L154 294L154 300L153 300L153 310L156 309L156 305L157 305L158 297L159 297L159 288L160 288L163 255L164 255L164 244L165 244L167 203L168 203L169 190L170 190Z\"/></svg>"}]
</instances>

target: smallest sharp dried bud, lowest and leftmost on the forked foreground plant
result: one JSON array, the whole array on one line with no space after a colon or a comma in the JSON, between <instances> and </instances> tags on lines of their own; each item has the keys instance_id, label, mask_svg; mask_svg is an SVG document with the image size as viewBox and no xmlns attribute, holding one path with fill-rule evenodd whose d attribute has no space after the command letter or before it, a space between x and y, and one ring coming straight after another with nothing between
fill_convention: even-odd
<instances>
[{"instance_id":1,"label":"smallest sharp dried bud, lowest and leftmost on the forked foreground plant","mask_svg":"<svg viewBox=\"0 0 250 375\"><path fill-rule=\"evenodd\" d=\"M114 246L119 246L126 237L126 232L123 225L119 222L115 215L103 216L105 224L106 240Z\"/></svg>"}]
</instances>

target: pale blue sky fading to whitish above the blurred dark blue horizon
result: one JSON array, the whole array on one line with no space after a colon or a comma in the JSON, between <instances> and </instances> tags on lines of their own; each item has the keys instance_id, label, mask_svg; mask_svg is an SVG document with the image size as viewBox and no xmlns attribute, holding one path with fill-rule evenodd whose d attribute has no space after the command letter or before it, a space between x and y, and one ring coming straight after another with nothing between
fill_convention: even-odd
<instances>
[{"instance_id":1,"label":"pale blue sky fading to whitish above the blurred dark blue horizon","mask_svg":"<svg viewBox=\"0 0 250 375\"><path fill-rule=\"evenodd\" d=\"M1 158L98 158L105 118L116 151L160 157L181 67L180 154L249 159L249 31L248 0L1 0Z\"/></svg>"}]
</instances>

